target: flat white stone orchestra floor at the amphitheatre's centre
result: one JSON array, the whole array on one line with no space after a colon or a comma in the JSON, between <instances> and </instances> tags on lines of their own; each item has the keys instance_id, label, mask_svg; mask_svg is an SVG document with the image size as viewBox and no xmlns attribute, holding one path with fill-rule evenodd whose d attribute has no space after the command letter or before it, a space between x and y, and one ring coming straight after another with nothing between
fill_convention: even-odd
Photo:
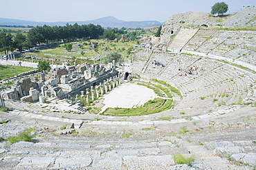
<instances>
[{"instance_id":1,"label":"flat white stone orchestra floor at the amphitheatre's centre","mask_svg":"<svg viewBox=\"0 0 256 170\"><path fill-rule=\"evenodd\" d=\"M134 83L125 83L113 89L109 94L104 96L104 111L108 107L131 108L143 105L148 100L157 98L153 89Z\"/></svg>"}]
</instances>

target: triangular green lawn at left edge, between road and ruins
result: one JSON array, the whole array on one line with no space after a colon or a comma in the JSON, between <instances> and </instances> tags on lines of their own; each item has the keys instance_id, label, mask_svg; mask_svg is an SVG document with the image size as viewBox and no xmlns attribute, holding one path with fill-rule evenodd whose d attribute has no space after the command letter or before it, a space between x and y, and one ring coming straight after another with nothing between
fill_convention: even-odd
<instances>
[{"instance_id":1,"label":"triangular green lawn at left edge, between road and ruins","mask_svg":"<svg viewBox=\"0 0 256 170\"><path fill-rule=\"evenodd\" d=\"M10 78L12 76L16 76L17 74L28 72L30 70L35 70L35 68L14 65L0 65L0 79Z\"/></svg>"}]
</instances>

